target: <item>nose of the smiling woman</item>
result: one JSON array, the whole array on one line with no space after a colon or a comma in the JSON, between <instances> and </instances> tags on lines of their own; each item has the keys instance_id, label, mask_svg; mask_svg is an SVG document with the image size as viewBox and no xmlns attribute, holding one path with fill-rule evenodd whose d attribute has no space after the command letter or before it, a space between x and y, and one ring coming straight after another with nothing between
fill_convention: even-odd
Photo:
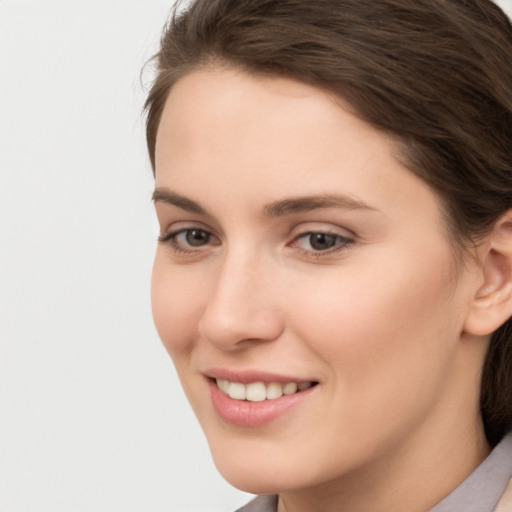
<instances>
[{"instance_id":1,"label":"nose of the smiling woman","mask_svg":"<svg viewBox=\"0 0 512 512\"><path fill-rule=\"evenodd\" d=\"M277 339L283 322L268 265L228 257L217 271L199 333L222 350Z\"/></svg>"}]
</instances>

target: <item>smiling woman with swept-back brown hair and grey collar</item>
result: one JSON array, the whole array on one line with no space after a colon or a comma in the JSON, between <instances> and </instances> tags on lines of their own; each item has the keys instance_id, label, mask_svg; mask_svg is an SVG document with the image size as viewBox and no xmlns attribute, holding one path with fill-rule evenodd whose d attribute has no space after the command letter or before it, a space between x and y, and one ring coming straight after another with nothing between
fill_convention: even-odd
<instances>
[{"instance_id":1,"label":"smiling woman with swept-back brown hair and grey collar","mask_svg":"<svg viewBox=\"0 0 512 512\"><path fill-rule=\"evenodd\" d=\"M157 57L154 318L243 510L512 510L506 16L197 0Z\"/></svg>"}]
</instances>

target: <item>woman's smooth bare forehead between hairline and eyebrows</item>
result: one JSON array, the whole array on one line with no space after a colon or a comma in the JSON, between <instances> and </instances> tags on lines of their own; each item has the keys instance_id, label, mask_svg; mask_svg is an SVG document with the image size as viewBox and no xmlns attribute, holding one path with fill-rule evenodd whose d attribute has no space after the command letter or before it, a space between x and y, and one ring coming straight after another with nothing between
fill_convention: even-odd
<instances>
[{"instance_id":1,"label":"woman's smooth bare forehead between hairline and eyebrows","mask_svg":"<svg viewBox=\"0 0 512 512\"><path fill-rule=\"evenodd\" d=\"M285 195L339 193L396 217L428 206L438 219L436 194L396 153L389 136L317 87L233 69L200 70L179 80L167 98L156 181L233 207L235 198L243 198L238 207L259 207Z\"/></svg>"}]
</instances>

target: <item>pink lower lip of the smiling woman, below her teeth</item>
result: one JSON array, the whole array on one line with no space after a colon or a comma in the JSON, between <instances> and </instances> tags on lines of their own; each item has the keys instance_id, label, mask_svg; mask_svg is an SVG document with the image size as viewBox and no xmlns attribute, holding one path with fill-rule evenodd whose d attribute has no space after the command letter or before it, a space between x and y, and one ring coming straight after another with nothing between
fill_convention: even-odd
<instances>
[{"instance_id":1,"label":"pink lower lip of the smiling woman, below her teeth","mask_svg":"<svg viewBox=\"0 0 512 512\"><path fill-rule=\"evenodd\" d=\"M283 395L281 398L273 400L250 402L249 400L231 398L221 391L216 382L211 379L208 379L208 384L213 406L219 416L227 423L247 428L260 427L278 419L290 408L307 398L316 388L313 386L293 395Z\"/></svg>"}]
</instances>

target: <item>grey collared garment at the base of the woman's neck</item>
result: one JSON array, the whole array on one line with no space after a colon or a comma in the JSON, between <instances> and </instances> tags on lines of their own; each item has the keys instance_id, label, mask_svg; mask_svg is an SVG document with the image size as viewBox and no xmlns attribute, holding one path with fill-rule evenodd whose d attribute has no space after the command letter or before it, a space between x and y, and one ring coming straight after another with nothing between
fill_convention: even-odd
<instances>
[{"instance_id":1,"label":"grey collared garment at the base of the woman's neck","mask_svg":"<svg viewBox=\"0 0 512 512\"><path fill-rule=\"evenodd\" d=\"M512 478L512 434L429 512L493 512ZM236 512L277 512L277 495L258 496Z\"/></svg>"}]
</instances>

